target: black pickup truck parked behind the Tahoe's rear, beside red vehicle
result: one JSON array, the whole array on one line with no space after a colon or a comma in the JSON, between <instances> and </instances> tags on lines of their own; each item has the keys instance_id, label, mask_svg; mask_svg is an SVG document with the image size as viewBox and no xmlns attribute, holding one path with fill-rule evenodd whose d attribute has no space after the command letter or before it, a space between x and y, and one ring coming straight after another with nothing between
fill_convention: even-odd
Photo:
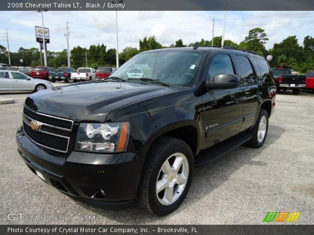
<instances>
[{"instance_id":1,"label":"black pickup truck parked behind the Tahoe's rear, beside red vehicle","mask_svg":"<svg viewBox=\"0 0 314 235\"><path fill-rule=\"evenodd\" d=\"M273 68L271 71L275 79L277 92L292 90L293 94L299 94L300 89L306 86L305 75L294 75L290 69L285 68Z\"/></svg>"}]
</instances>

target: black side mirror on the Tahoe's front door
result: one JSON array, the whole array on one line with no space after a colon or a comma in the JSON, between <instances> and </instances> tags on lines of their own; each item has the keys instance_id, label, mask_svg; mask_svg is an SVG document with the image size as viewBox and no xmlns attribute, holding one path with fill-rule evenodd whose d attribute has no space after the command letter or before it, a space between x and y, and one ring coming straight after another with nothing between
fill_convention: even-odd
<instances>
[{"instance_id":1,"label":"black side mirror on the Tahoe's front door","mask_svg":"<svg viewBox=\"0 0 314 235\"><path fill-rule=\"evenodd\" d=\"M212 80L212 82L207 81L205 83L208 91L213 89L236 88L240 84L239 77L230 73L216 74Z\"/></svg>"}]
</instances>

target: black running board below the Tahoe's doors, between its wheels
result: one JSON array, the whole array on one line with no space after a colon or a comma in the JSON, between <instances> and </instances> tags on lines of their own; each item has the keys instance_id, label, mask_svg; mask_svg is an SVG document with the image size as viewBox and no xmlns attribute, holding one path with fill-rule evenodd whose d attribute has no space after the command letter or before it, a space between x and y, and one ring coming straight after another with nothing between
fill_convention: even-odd
<instances>
[{"instance_id":1,"label":"black running board below the Tahoe's doors, between its wheels","mask_svg":"<svg viewBox=\"0 0 314 235\"><path fill-rule=\"evenodd\" d=\"M235 135L225 141L222 141L214 146L211 146L207 149L202 150L196 157L194 166L200 167L209 162L217 159L218 157L223 156L228 153L230 150L242 145L243 143L249 141L252 138L252 134L250 132L244 132Z\"/></svg>"}]
</instances>

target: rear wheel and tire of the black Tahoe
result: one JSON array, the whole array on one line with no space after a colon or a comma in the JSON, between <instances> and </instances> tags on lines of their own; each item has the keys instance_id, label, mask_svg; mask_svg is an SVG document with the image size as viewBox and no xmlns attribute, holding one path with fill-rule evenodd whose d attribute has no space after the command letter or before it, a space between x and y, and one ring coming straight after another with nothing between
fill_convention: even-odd
<instances>
[{"instance_id":1,"label":"rear wheel and tire of the black Tahoe","mask_svg":"<svg viewBox=\"0 0 314 235\"><path fill-rule=\"evenodd\" d=\"M252 128L253 137L246 142L246 145L252 148L260 148L266 140L268 132L268 113L266 110L261 109L259 116Z\"/></svg>"}]
</instances>

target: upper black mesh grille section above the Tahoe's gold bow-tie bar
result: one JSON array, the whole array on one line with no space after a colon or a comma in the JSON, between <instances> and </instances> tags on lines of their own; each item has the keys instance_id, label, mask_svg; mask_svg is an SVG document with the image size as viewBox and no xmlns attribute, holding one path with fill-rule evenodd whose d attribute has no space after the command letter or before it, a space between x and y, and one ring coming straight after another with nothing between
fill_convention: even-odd
<instances>
[{"instance_id":1,"label":"upper black mesh grille section above the Tahoe's gold bow-tie bar","mask_svg":"<svg viewBox=\"0 0 314 235\"><path fill-rule=\"evenodd\" d=\"M24 114L26 114L29 118L32 118L36 121L40 121L55 127L72 130L73 121L66 120L64 118L54 118L49 115L38 114L33 111L30 111L27 108L24 108Z\"/></svg>"}]
</instances>

